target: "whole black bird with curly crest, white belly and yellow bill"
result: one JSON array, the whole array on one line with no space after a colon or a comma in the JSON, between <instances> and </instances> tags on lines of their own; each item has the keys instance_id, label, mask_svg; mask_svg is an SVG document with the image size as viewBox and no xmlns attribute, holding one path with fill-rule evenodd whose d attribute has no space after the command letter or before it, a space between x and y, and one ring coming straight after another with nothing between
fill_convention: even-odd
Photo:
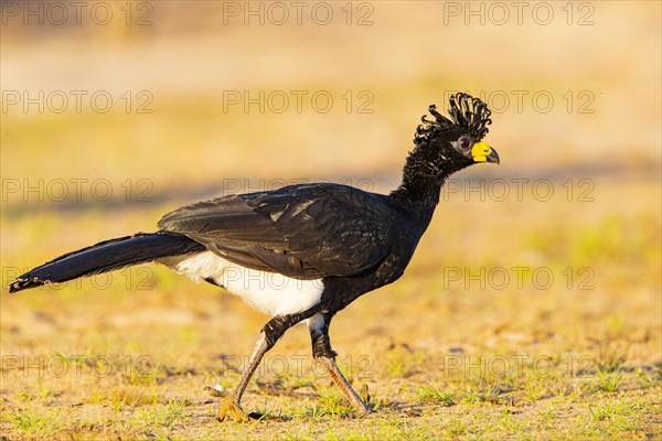
<instances>
[{"instance_id":1,"label":"whole black bird with curly crest, white belly and yellow bill","mask_svg":"<svg viewBox=\"0 0 662 441\"><path fill-rule=\"evenodd\" d=\"M318 183L197 202L164 215L157 233L66 254L20 276L9 291L149 261L167 265L224 287L273 316L237 386L225 392L205 388L222 397L221 419L229 411L237 421L248 420L239 402L250 377L265 353L301 321L308 324L314 359L364 416L369 407L335 365L331 319L403 275L448 176L478 162L499 163L482 141L492 121L480 99L452 95L450 119L434 105L429 111L435 119L423 117L402 184L391 194Z\"/></svg>"}]
</instances>

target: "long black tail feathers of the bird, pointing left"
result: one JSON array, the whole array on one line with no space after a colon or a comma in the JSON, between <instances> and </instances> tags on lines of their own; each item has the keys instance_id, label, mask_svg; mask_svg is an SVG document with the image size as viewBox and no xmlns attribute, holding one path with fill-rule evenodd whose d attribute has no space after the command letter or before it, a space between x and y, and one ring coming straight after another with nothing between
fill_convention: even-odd
<instances>
[{"instance_id":1,"label":"long black tail feathers of the bird, pointing left","mask_svg":"<svg viewBox=\"0 0 662 441\"><path fill-rule=\"evenodd\" d=\"M186 236L172 233L138 233L134 236L105 240L60 256L19 276L9 292L34 288L47 282L65 282L145 263L168 256L203 251L205 247Z\"/></svg>"}]
</instances>

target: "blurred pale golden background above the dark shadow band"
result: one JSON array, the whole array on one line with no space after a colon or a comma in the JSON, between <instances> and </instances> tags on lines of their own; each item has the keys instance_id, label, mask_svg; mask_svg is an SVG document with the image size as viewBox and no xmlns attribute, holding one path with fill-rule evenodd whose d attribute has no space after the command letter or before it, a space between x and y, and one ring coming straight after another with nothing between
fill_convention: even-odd
<instances>
[{"instance_id":1,"label":"blurred pale golden background above the dark shadow band","mask_svg":"<svg viewBox=\"0 0 662 441\"><path fill-rule=\"evenodd\" d=\"M468 4L3 2L2 176L389 189L456 90L504 157L472 173L658 175L658 4Z\"/></svg>"}]
</instances>

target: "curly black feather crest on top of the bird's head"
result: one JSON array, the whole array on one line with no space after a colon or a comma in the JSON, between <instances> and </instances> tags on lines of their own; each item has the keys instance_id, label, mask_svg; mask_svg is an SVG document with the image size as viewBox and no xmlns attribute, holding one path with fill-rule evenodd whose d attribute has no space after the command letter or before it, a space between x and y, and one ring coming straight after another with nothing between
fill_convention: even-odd
<instances>
[{"instance_id":1,"label":"curly black feather crest on top of the bird's head","mask_svg":"<svg viewBox=\"0 0 662 441\"><path fill-rule=\"evenodd\" d=\"M458 93L450 97L449 103L448 114L451 119L439 114L436 105L430 106L429 110L435 120L428 120L426 115L423 116L420 119L423 123L416 128L414 140L416 143L427 141L437 130L442 130L451 125L461 128L476 141L480 141L488 135L488 125L492 123L490 119L492 112L483 101L470 95Z\"/></svg>"}]
</instances>

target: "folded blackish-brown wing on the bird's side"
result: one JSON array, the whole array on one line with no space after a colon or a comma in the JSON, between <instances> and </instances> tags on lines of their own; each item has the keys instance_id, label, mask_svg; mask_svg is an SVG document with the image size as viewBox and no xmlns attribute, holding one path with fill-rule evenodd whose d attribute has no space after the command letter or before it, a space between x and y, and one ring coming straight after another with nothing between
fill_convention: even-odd
<instances>
[{"instance_id":1,"label":"folded blackish-brown wing on the bird's side","mask_svg":"<svg viewBox=\"0 0 662 441\"><path fill-rule=\"evenodd\" d=\"M301 279L374 267L391 251L396 228L384 196L338 184L200 202L167 214L159 227L236 263Z\"/></svg>"}]
</instances>

